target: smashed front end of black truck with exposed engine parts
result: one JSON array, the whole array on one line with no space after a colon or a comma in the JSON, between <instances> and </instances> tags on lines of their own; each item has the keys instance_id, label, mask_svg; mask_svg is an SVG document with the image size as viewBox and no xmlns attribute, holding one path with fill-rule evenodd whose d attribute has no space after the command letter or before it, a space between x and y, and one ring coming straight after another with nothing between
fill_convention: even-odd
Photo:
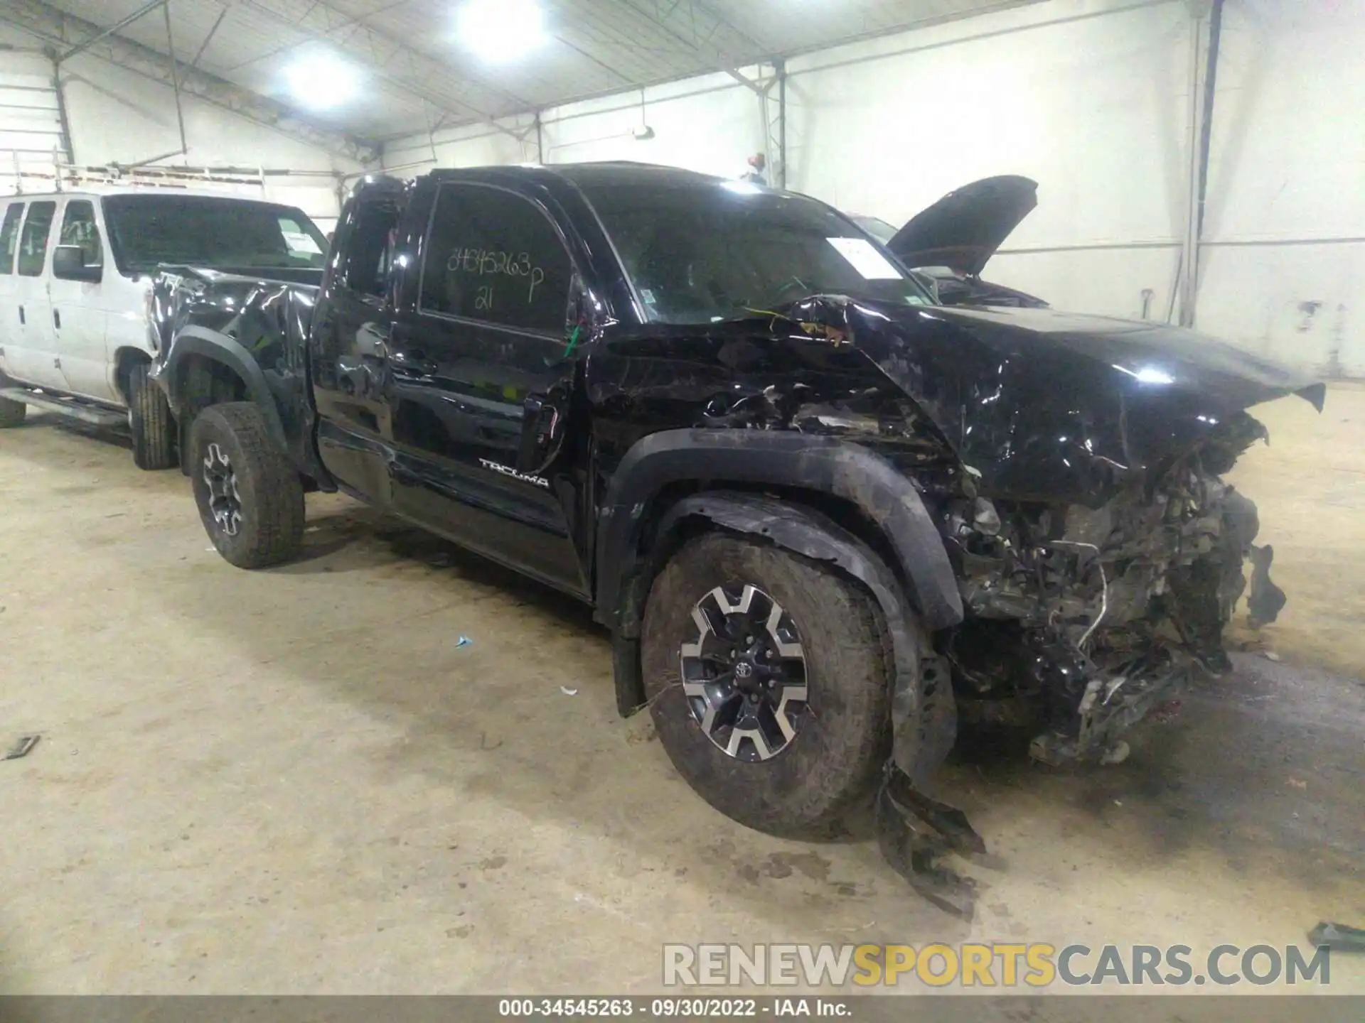
<instances>
[{"instance_id":1,"label":"smashed front end of black truck with exposed engine parts","mask_svg":"<svg viewBox=\"0 0 1365 1023\"><path fill-rule=\"evenodd\" d=\"M1095 509L949 501L940 529L968 611L943 649L960 717L1039 727L1031 753L1048 762L1121 757L1118 734L1192 670L1224 670L1259 522L1220 473L1264 435L1242 413ZM1253 574L1257 591L1272 585Z\"/></svg>"}]
</instances>

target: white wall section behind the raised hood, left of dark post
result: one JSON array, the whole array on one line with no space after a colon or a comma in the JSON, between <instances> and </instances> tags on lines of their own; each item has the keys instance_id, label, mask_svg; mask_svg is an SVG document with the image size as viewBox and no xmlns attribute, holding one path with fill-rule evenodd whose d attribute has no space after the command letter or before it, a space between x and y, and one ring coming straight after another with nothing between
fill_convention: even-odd
<instances>
[{"instance_id":1,"label":"white wall section behind the raised hood, left of dark post","mask_svg":"<svg viewBox=\"0 0 1365 1023\"><path fill-rule=\"evenodd\" d=\"M901 224L968 181L1025 175L1039 206L1006 250L1170 248L1002 255L990 280L1115 315L1152 289L1164 311L1185 216L1189 46L1182 3L1058 0L793 60L789 180Z\"/></svg>"}]
</instances>

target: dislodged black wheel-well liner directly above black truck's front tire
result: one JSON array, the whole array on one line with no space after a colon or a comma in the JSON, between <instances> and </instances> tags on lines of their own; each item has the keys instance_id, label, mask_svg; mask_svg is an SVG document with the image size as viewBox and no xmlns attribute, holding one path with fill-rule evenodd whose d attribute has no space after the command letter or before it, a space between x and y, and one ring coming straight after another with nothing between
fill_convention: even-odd
<instances>
[{"instance_id":1,"label":"dislodged black wheel-well liner directly above black truck's front tire","mask_svg":"<svg viewBox=\"0 0 1365 1023\"><path fill-rule=\"evenodd\" d=\"M829 516L756 494L723 490L693 494L669 509L659 535L672 535L687 518L706 518L728 532L831 565L871 593L890 633L895 671L890 679L891 760L916 787L927 788L932 772L957 741L957 702L946 666L886 562Z\"/></svg>"}]
</instances>

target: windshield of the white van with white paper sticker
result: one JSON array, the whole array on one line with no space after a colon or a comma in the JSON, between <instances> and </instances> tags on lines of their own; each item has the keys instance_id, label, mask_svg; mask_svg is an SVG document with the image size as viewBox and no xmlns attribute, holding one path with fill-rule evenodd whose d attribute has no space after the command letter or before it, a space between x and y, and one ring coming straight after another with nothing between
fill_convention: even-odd
<instances>
[{"instance_id":1,"label":"windshield of the white van with white paper sticker","mask_svg":"<svg viewBox=\"0 0 1365 1023\"><path fill-rule=\"evenodd\" d=\"M157 263L207 269L322 269L326 239L292 206L206 195L112 195L105 224L123 273Z\"/></svg>"}]
</instances>

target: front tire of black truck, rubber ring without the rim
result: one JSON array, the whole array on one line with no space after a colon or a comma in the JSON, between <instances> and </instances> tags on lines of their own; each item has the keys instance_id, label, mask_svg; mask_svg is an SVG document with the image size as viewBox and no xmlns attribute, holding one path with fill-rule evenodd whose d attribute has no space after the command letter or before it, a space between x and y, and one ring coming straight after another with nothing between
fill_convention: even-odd
<instances>
[{"instance_id":1,"label":"front tire of black truck, rubber ring without the rim","mask_svg":"<svg viewBox=\"0 0 1365 1023\"><path fill-rule=\"evenodd\" d=\"M768 760L729 756L702 731L681 685L692 610L715 587L751 584L792 615L812 717ZM711 806L758 831L827 837L864 801L890 754L890 637L872 599L786 551L729 533L689 540L650 589L642 670L654 726L678 773Z\"/></svg>"}]
</instances>

